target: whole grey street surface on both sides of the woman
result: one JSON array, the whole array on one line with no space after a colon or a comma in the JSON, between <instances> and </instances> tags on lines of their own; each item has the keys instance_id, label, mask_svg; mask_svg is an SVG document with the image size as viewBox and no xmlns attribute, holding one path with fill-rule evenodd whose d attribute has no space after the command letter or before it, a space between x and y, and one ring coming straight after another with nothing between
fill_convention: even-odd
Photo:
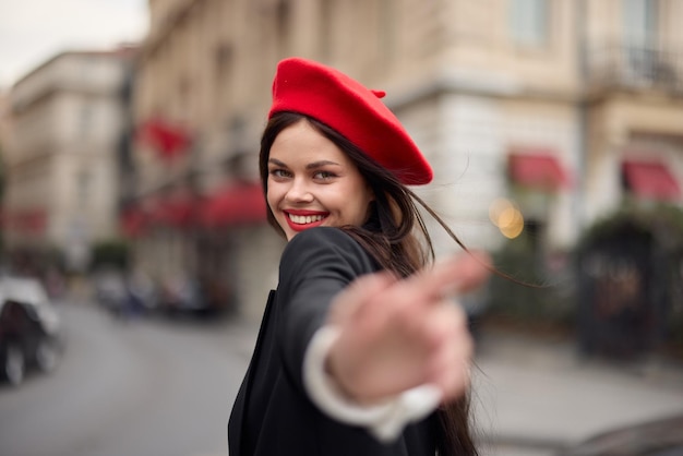
<instances>
[{"instance_id":1,"label":"whole grey street surface on both sides of the woman","mask_svg":"<svg viewBox=\"0 0 683 456\"><path fill-rule=\"evenodd\" d=\"M239 320L129 322L61 303L50 375L0 387L2 456L225 456L256 335ZM615 427L683 413L683 365L576 356L572 340L486 333L472 405L483 456L552 456Z\"/></svg>"}]
</instances>

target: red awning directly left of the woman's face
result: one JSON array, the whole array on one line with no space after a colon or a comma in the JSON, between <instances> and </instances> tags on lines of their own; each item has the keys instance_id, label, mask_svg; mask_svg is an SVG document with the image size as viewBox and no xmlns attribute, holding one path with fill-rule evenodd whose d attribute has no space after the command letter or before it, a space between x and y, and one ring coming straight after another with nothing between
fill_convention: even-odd
<instances>
[{"instance_id":1,"label":"red awning directly left of the woman's face","mask_svg":"<svg viewBox=\"0 0 683 456\"><path fill-rule=\"evenodd\" d=\"M263 190L257 183L228 185L206 200L199 217L209 228L261 224L266 220Z\"/></svg>"}]
</instances>

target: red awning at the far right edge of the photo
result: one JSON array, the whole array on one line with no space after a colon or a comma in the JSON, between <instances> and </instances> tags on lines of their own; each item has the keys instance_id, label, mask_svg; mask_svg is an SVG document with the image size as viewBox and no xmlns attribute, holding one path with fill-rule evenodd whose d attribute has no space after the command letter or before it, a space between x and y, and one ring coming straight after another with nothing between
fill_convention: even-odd
<instances>
[{"instance_id":1,"label":"red awning at the far right edge of the photo","mask_svg":"<svg viewBox=\"0 0 683 456\"><path fill-rule=\"evenodd\" d=\"M681 197L679 182L660 163L625 160L622 169L628 189L636 196L660 201Z\"/></svg>"}]
</instances>

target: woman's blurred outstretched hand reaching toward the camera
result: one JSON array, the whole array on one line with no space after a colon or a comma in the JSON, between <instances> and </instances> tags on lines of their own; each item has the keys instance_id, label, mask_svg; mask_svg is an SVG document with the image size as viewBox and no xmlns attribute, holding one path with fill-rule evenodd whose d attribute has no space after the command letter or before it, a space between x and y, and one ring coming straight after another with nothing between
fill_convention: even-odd
<instances>
[{"instance_id":1,"label":"woman's blurred outstretched hand reaching toward the camera","mask_svg":"<svg viewBox=\"0 0 683 456\"><path fill-rule=\"evenodd\" d=\"M484 253L438 263L406 279L382 272L355 280L334 301L328 323L340 329L326 369L342 391L372 404L422 384L443 400L469 384L474 343L453 296L488 277Z\"/></svg>"}]
</instances>

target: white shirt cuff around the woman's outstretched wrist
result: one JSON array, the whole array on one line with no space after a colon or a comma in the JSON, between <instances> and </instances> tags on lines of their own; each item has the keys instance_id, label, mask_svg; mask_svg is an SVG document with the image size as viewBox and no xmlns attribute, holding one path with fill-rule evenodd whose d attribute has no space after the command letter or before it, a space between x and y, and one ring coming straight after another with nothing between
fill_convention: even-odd
<instances>
[{"instance_id":1,"label":"white shirt cuff around the woman's outstretched wrist","mask_svg":"<svg viewBox=\"0 0 683 456\"><path fill-rule=\"evenodd\" d=\"M391 442L404 428L439 407L441 391L430 384L407 389L386 401L361 406L349 400L325 371L329 348L339 337L335 326L321 327L311 339L303 360L303 384L311 400L331 418L367 428L378 440Z\"/></svg>"}]
</instances>

